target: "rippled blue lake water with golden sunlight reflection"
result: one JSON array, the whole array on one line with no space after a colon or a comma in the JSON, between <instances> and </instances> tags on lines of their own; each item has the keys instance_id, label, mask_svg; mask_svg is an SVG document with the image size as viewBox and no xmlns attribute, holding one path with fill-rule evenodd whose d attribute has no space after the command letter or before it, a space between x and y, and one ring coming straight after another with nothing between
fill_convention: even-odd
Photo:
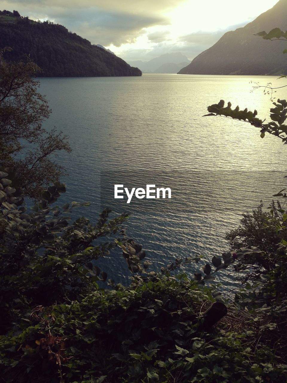
<instances>
[{"instance_id":1,"label":"rippled blue lake water with golden sunlight reflection","mask_svg":"<svg viewBox=\"0 0 287 383\"><path fill-rule=\"evenodd\" d=\"M175 257L204 255L208 262L227 251L225 232L238 226L241 213L261 199L267 208L285 187L287 148L279 139L261 139L248 123L202 117L208 105L223 99L233 108L256 108L269 121L270 95L263 88L251 92L250 81L279 87L284 79L143 74L40 81L52 108L44 126L68 134L73 149L57 160L68 173L61 200L90 201L76 213L92 222L105 206L128 211L128 234L143 245L155 269ZM274 96L286 98L287 88ZM170 187L172 198L127 204L114 199L115 183ZM119 252L99 263L108 278L127 283ZM185 270L193 274L201 265Z\"/></svg>"}]
</instances>

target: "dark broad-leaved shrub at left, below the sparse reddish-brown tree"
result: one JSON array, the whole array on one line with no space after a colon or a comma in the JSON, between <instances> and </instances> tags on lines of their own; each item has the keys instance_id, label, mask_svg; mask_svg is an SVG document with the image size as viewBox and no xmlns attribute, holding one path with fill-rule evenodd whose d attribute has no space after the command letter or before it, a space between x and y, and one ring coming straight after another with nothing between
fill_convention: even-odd
<instances>
[{"instance_id":1,"label":"dark broad-leaved shrub at left, below the sparse reddish-brown tree","mask_svg":"<svg viewBox=\"0 0 287 383\"><path fill-rule=\"evenodd\" d=\"M106 282L104 272L95 274L86 265L104 257L126 238L122 223L127 214L108 220L104 210L95 225L84 217L70 223L70 213L89 203L55 205L65 185L56 182L43 200L27 211L21 189L13 187L11 169L0 172L0 334L18 321L29 308L64 303L88 294ZM11 175L11 174L10 174ZM13 176L13 174L12 174ZM9 177L9 178L6 178ZM112 237L112 238L111 238ZM106 241L96 242L104 238Z\"/></svg>"}]
</instances>

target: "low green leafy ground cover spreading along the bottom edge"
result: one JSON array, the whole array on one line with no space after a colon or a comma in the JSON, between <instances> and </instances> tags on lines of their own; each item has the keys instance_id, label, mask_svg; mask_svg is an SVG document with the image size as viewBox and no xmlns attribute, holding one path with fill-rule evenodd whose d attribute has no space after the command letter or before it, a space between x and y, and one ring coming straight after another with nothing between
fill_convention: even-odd
<instances>
[{"instance_id":1,"label":"low green leafy ground cover spreading along the bottom edge","mask_svg":"<svg viewBox=\"0 0 287 383\"><path fill-rule=\"evenodd\" d=\"M204 327L215 299L185 275L97 290L38 307L0 340L6 382L264 382L283 378L257 316L230 308Z\"/></svg>"}]
</instances>

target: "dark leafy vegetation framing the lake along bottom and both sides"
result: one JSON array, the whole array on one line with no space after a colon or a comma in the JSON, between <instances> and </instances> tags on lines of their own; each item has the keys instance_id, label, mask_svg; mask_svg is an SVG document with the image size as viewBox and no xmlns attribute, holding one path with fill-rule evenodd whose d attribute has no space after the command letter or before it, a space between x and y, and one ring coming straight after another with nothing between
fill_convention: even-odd
<instances>
[{"instance_id":1,"label":"dark leafy vegetation framing the lake along bottom and both sides","mask_svg":"<svg viewBox=\"0 0 287 383\"><path fill-rule=\"evenodd\" d=\"M2 61L2 70L7 70L5 65ZM13 65L12 69L26 67ZM3 89L7 76L0 79ZM37 101L28 77L23 73L17 77L23 83L16 90L28 87L36 97L33 105L43 105L46 111L45 100ZM18 121L15 106L22 93L15 94L15 102L8 98L5 108L0 104L7 121ZM33 100L23 99L27 101ZM278 126L263 124L247 110L223 106L213 105L212 115L229 113L248 119L286 142L282 136L287 134L285 100L278 100L271 111ZM35 123L32 131L37 137L41 121L24 117L19 127L27 133ZM22 148L18 137L10 137L11 129L5 131L5 119L0 121L5 132L1 166L11 160L7 148ZM96 223L85 217L71 222L71 211L89 203L59 206L64 184L56 181L41 195L38 189L37 203L29 210L21 187L27 190L12 160L11 167L0 168L3 382L287 381L285 203L272 203L267 212L261 204L245 214L241 226L227 234L230 251L214 255L210 264L200 264L201 257L176 258L158 271L149 271L152 263L142 245L127 237L127 214L110 219L111 211L105 209ZM283 192L276 196L286 200ZM99 258L116 250L131 273L127 287L109 279L97 265ZM248 282L240 283L239 271L250 267ZM218 291L215 277L230 268L238 272L239 289L227 299ZM192 273L194 277L188 277Z\"/></svg>"}]
</instances>

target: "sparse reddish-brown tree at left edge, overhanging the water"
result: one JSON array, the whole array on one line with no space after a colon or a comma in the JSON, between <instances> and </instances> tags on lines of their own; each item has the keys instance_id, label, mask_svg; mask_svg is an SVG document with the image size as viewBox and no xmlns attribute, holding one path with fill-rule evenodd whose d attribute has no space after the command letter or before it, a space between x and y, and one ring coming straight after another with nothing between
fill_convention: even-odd
<instances>
[{"instance_id":1,"label":"sparse reddish-brown tree at left edge, overhanging the water","mask_svg":"<svg viewBox=\"0 0 287 383\"><path fill-rule=\"evenodd\" d=\"M47 131L42 122L51 110L32 77L41 69L31 61L5 62L0 52L0 167L12 167L23 195L39 199L45 187L59 180L63 167L51 159L70 152L67 136Z\"/></svg>"}]
</instances>

